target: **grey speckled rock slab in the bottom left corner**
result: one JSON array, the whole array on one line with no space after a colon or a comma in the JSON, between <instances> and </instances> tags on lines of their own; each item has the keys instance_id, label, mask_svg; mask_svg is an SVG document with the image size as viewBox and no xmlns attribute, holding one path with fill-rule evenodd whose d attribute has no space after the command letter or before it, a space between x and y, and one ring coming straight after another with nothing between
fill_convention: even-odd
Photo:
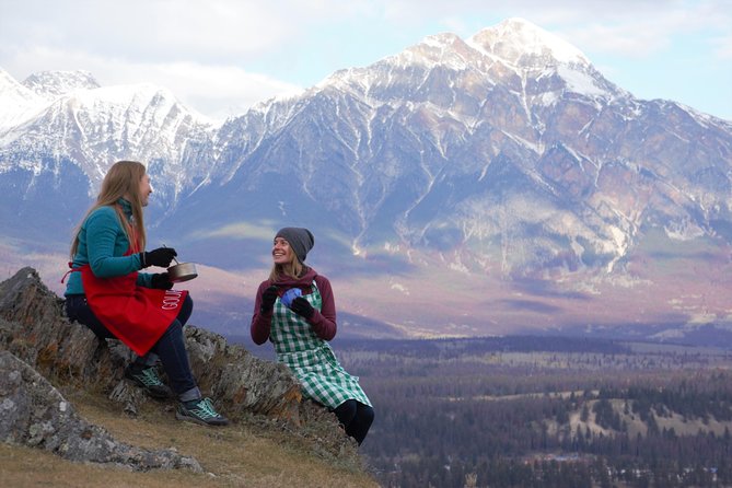
<instances>
[{"instance_id":1,"label":"grey speckled rock slab in the bottom left corner","mask_svg":"<svg viewBox=\"0 0 732 488\"><path fill-rule=\"evenodd\" d=\"M198 461L173 450L147 450L116 441L106 430L80 418L58 390L8 351L0 351L0 396L2 442L135 470L189 468L202 473Z\"/></svg>"}]
</instances>

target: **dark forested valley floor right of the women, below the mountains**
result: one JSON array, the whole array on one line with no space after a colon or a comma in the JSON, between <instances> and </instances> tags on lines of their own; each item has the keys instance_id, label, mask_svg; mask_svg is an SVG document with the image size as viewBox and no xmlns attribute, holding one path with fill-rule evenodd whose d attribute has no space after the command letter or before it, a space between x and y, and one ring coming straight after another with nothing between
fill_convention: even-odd
<instances>
[{"instance_id":1,"label":"dark forested valley floor right of the women, below the mountains","mask_svg":"<svg viewBox=\"0 0 732 488\"><path fill-rule=\"evenodd\" d=\"M336 340L385 487L732 486L732 350L561 337Z\"/></svg>"}]
</instances>

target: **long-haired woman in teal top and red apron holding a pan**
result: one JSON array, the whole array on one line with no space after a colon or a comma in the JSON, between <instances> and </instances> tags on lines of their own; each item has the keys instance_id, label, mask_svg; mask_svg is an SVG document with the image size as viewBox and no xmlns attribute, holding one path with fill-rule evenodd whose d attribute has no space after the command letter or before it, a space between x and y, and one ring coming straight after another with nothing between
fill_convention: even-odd
<instances>
[{"instance_id":1,"label":"long-haired woman in teal top and red apron holding a pan","mask_svg":"<svg viewBox=\"0 0 732 488\"><path fill-rule=\"evenodd\" d=\"M125 377L151 396L179 403L176 417L221 426L229 421L204 398L188 363L183 326L193 312L186 290L173 290L167 272L139 272L166 268L177 255L171 247L144 251L142 208L152 193L142 163L118 161L107 172L96 204L75 231L71 245L66 311L100 337L117 338L137 359L125 369ZM172 390L158 375L163 364Z\"/></svg>"}]
</instances>

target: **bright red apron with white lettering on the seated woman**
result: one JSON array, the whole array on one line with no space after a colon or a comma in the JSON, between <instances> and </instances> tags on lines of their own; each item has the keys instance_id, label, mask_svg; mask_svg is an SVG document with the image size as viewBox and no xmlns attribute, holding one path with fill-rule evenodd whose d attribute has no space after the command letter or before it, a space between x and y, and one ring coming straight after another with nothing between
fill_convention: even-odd
<instances>
[{"instance_id":1,"label":"bright red apron with white lettering on the seated woman","mask_svg":"<svg viewBox=\"0 0 732 488\"><path fill-rule=\"evenodd\" d=\"M131 248L125 253L129 256ZM187 290L159 290L137 286L138 271L97 278L89 265L81 271L86 303L96 318L127 347L144 356L181 312Z\"/></svg>"}]
</instances>

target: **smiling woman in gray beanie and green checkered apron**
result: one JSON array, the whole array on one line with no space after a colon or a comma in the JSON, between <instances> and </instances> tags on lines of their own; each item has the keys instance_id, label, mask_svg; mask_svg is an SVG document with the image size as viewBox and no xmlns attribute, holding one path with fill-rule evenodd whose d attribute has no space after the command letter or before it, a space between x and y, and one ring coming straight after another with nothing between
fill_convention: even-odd
<instances>
[{"instance_id":1,"label":"smiling woman in gray beanie and green checkered apron","mask_svg":"<svg viewBox=\"0 0 732 488\"><path fill-rule=\"evenodd\" d=\"M327 342L336 335L336 305L328 279L305 265L314 244L307 229L283 228L275 235L272 269L254 302L252 339L259 345L269 339L303 396L334 411L361 444L374 411L358 377L344 370Z\"/></svg>"}]
</instances>

